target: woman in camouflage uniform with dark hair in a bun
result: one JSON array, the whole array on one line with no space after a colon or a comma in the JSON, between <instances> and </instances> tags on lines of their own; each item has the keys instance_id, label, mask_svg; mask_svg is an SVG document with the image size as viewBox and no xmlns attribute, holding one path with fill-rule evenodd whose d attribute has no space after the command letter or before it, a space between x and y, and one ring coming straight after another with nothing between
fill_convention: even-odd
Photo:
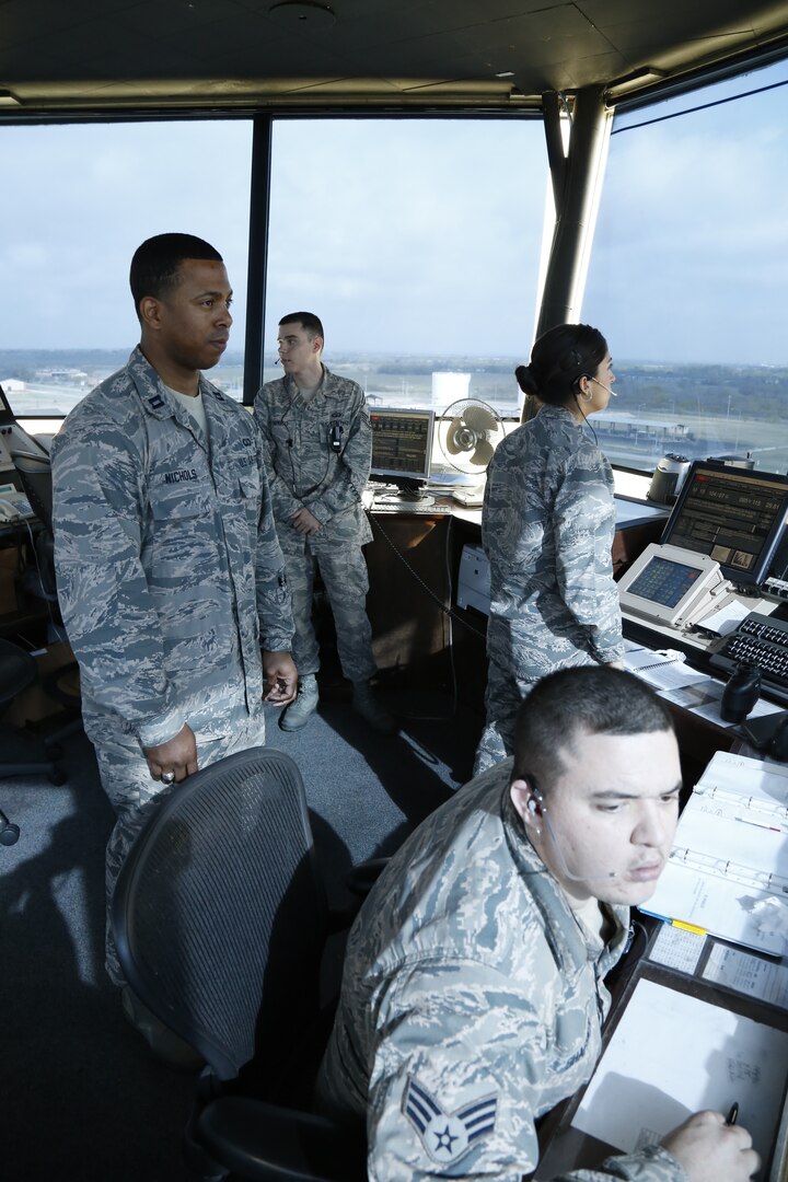
<instances>
[{"instance_id":1,"label":"woman in camouflage uniform with dark hair in a bun","mask_svg":"<svg viewBox=\"0 0 788 1182\"><path fill-rule=\"evenodd\" d=\"M541 409L499 444L487 472L487 721L475 773L513 753L517 707L540 677L623 655L613 473L586 426L610 401L611 366L597 329L561 324L516 371Z\"/></svg>"}]
</instances>

